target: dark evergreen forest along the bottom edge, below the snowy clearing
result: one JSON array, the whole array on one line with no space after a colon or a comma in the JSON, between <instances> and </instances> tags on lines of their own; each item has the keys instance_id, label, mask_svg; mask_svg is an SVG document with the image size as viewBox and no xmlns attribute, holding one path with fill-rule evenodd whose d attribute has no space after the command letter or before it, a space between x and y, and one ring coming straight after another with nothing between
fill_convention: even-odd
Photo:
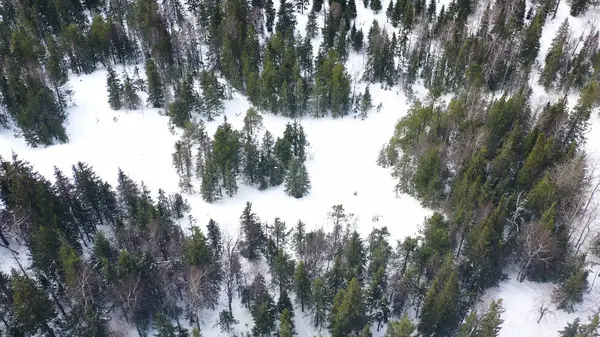
<instances>
[{"instance_id":1,"label":"dark evergreen forest along the bottom edge, below the snowy clearing","mask_svg":"<svg viewBox=\"0 0 600 337\"><path fill-rule=\"evenodd\" d=\"M279 218L262 222L247 203L239 236L213 220L201 229L192 217L184 235L176 221L190 207L181 195L159 190L155 201L121 170L117 181L113 189L78 163L72 178L55 169L52 184L16 157L0 162L0 249L21 241L31 254L24 267L12 251L19 269L0 273L0 335L111 336L109 321L118 317L140 336L150 327L156 336L200 336L203 312L220 309L222 293L227 305L217 325L227 333L237 331L236 296L253 319L251 336L294 336L297 310L336 337L384 327L388 337L498 336L501 329L501 300L469 309L472 293L495 273L486 257L503 248L484 239L493 231L469 235L473 254L485 255L468 265L463 259L474 255L456 257L453 221L440 213L395 247L386 227L361 237L342 205L328 213L330 232L309 231L302 221L293 228ZM476 228L506 221L499 207ZM244 263L266 263L270 278L244 272ZM533 265L527 275L539 270ZM561 336L594 336L598 326L597 316L575 320Z\"/></svg>"}]
</instances>

